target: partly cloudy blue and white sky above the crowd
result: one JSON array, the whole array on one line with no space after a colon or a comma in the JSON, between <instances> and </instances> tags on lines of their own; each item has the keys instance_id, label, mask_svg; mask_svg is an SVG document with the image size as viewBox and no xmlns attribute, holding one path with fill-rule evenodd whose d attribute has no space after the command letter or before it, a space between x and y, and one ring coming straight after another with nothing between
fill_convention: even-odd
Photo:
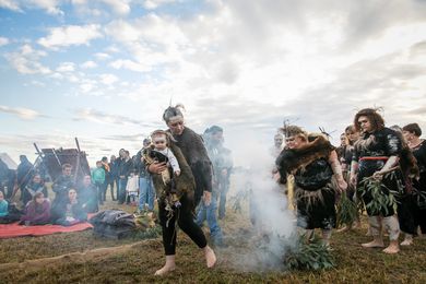
<instances>
[{"instance_id":1,"label":"partly cloudy blue and white sky above the crowd","mask_svg":"<svg viewBox=\"0 0 426 284\"><path fill-rule=\"evenodd\" d=\"M269 147L356 110L426 132L424 0L0 0L0 152L131 154L169 105ZM237 158L237 163L240 159Z\"/></svg>"}]
</instances>

